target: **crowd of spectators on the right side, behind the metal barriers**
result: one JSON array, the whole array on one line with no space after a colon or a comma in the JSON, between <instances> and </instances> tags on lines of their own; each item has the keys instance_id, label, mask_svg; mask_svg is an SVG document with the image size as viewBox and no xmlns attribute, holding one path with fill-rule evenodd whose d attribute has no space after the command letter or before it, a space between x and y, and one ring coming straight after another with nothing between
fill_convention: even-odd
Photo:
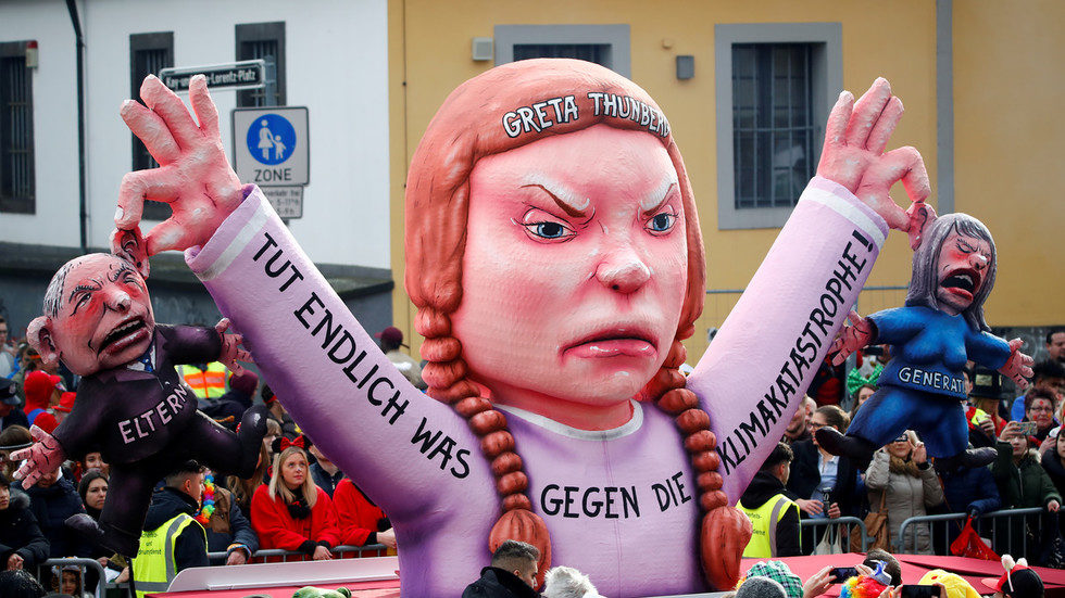
<instances>
[{"instance_id":1,"label":"crowd of spectators on the right side, behind the metal barriers","mask_svg":"<svg viewBox=\"0 0 1065 598\"><path fill-rule=\"evenodd\" d=\"M988 467L968 469L937 463L913 431L880 447L868 463L850 462L847 457L832 456L817 446L813 435L816 430L828 425L845 433L853 415L877 391L877 374L890 359L887 347L877 347L877 357L863 356L868 361L861 373L857 368L852 371L851 402L843 404L850 411L835 404L818 407L807 397L799 405L781 438L781 444L791 448L790 471L786 475L773 475L774 467L779 467L780 461L779 453L774 451L755 478L756 482L761 480L761 485L752 483L751 488L761 487L765 494L766 479L781 480L782 499L798 507L801 520L811 521L804 529L811 529L812 533L804 533L800 554L845 548L842 540L826 546L824 534L830 525L812 523L825 520L830 523L840 517L864 520L870 512L882 512L892 546L906 552L949 555L950 543L965 524L964 518L935 524L911 523L904 532L902 523L929 514L965 513L974 518L981 534L995 536L997 550L1027 552L1029 560L1038 562L1045 558L1042 555L1045 543L1056 542L1057 534L1065 532L1057 517L1065 496L1065 438L1062 437L1065 434L1060 434L1065 409L1065 329L1052 329L1045 347L1049 357L1033 368L1028 392L1012 400L1003 396L998 372L983 368L964 372L969 397L964 406L969 444L997 450L997 459ZM744 495L741 508L750 507L747 499ZM992 511L1033 508L1042 509L1044 514L1015 516L1011 525L990 526L980 522L982 516ZM784 548L774 555L786 556L792 550L791 538L798 530L785 529L793 525L788 512L782 509L780 519L772 523L778 526L776 537L782 538L782 544L775 548ZM900 537L900 533L905 537Z\"/></svg>"}]
</instances>

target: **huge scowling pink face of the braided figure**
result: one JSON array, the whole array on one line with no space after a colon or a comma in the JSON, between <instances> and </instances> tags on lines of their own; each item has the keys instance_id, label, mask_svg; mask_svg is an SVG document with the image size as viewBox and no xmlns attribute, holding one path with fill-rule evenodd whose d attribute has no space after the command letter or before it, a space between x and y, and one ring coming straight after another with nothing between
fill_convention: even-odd
<instances>
[{"instance_id":1,"label":"huge scowling pink face of the braided figure","mask_svg":"<svg viewBox=\"0 0 1065 598\"><path fill-rule=\"evenodd\" d=\"M677 332L688 244L677 173L647 133L596 125L480 160L454 334L496 400L565 419L627 402Z\"/></svg>"}]
</instances>

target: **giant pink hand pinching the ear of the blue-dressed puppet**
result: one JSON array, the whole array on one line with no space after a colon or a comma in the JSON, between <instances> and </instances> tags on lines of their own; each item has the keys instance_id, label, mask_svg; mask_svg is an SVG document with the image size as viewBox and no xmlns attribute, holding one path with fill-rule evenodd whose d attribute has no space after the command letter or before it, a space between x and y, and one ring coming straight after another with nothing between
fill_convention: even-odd
<instances>
[{"instance_id":1,"label":"giant pink hand pinching the ear of the blue-dressed puppet","mask_svg":"<svg viewBox=\"0 0 1065 598\"><path fill-rule=\"evenodd\" d=\"M902 100L891 96L891 85L884 78L874 81L856 103L850 91L840 93L828 115L817 175L849 189L891 228L909 231L916 216L899 207L888 191L901 180L910 200L923 203L931 187L917 150L905 147L884 153L902 113Z\"/></svg>"}]
</instances>

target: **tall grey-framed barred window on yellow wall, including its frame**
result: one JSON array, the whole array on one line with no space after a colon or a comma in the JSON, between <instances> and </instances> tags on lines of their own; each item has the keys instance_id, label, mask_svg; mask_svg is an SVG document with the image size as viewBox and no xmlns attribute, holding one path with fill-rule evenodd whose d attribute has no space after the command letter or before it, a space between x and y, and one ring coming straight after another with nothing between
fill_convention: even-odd
<instances>
[{"instance_id":1,"label":"tall grey-framed barred window on yellow wall, including its frame","mask_svg":"<svg viewBox=\"0 0 1065 598\"><path fill-rule=\"evenodd\" d=\"M782 226L842 88L834 23L717 25L718 228Z\"/></svg>"}]
</instances>

